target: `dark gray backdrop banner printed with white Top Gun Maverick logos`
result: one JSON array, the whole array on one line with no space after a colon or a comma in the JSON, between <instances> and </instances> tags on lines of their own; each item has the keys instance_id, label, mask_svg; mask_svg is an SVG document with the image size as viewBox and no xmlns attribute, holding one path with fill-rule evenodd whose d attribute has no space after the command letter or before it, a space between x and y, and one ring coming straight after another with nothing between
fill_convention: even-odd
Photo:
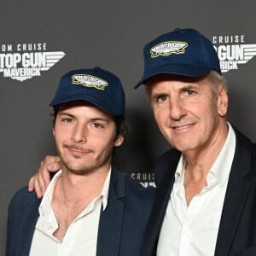
<instances>
[{"instance_id":1,"label":"dark gray backdrop banner printed with white Top Gun Maverick logos","mask_svg":"<svg viewBox=\"0 0 256 256\"><path fill-rule=\"evenodd\" d=\"M63 3L64 2L64 3ZM154 162L170 146L143 86L143 46L176 27L212 41L228 82L228 119L256 142L256 3L204 1L8 1L0 9L0 255L10 198L55 154L49 102L63 73L102 67L125 88L131 133L115 156L121 172L154 185Z\"/></svg>"}]
</instances>

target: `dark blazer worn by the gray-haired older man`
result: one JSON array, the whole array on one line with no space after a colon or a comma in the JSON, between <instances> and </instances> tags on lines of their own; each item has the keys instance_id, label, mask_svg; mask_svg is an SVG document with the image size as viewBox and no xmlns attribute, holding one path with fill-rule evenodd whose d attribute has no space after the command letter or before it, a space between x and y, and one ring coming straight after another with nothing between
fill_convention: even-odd
<instances>
[{"instance_id":1,"label":"dark blazer worn by the gray-haired older man","mask_svg":"<svg viewBox=\"0 0 256 256\"><path fill-rule=\"evenodd\" d=\"M255 256L256 145L233 128L236 132L236 152L230 170L214 255ZM180 152L171 149L160 157L155 166L157 189L143 241L142 256L156 255L160 229L179 158Z\"/></svg>"}]
</instances>

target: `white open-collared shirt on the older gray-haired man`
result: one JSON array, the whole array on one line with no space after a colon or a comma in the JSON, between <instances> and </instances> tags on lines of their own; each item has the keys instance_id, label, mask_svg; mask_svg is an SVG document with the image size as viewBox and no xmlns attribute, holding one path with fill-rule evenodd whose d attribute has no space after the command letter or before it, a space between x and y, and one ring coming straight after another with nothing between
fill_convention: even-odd
<instances>
[{"instance_id":1,"label":"white open-collared shirt on the older gray-haired man","mask_svg":"<svg viewBox=\"0 0 256 256\"><path fill-rule=\"evenodd\" d=\"M207 174L207 185L189 206L185 198L183 156L160 231L157 256L213 256L224 196L235 154L236 135L230 124L224 147Z\"/></svg>"}]
</instances>

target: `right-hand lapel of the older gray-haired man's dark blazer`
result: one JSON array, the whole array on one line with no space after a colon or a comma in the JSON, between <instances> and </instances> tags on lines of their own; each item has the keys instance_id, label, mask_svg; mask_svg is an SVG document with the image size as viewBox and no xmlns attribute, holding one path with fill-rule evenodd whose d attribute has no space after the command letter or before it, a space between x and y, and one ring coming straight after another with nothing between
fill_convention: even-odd
<instances>
[{"instance_id":1,"label":"right-hand lapel of the older gray-haired man's dark blazer","mask_svg":"<svg viewBox=\"0 0 256 256\"><path fill-rule=\"evenodd\" d=\"M236 153L224 199L215 256L228 255L230 252L241 212L251 186L251 148L252 143L236 131Z\"/></svg>"}]
</instances>

